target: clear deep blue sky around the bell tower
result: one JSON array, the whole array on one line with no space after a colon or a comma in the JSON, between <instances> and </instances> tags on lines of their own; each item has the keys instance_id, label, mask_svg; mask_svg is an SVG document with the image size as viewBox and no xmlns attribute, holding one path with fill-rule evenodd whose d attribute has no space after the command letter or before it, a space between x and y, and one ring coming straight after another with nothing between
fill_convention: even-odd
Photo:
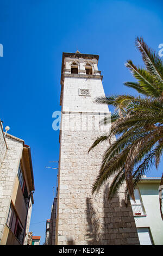
<instances>
[{"instance_id":1,"label":"clear deep blue sky around the bell tower","mask_svg":"<svg viewBox=\"0 0 163 256\"><path fill-rule=\"evenodd\" d=\"M0 118L10 134L32 151L35 193L30 231L45 242L59 159L59 131L52 113L60 111L62 52L99 54L105 94L133 93L127 59L142 65L136 35L154 50L163 43L162 1L0 0ZM162 57L163 58L163 57ZM112 111L112 109L110 109ZM151 170L148 176L161 176ZM44 222L43 222L44 221Z\"/></svg>"}]
</instances>

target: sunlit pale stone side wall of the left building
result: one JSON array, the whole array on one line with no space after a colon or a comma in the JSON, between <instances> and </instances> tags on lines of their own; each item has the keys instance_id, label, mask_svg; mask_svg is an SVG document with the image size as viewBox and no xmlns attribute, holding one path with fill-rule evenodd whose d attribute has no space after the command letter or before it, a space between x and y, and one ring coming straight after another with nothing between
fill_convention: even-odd
<instances>
[{"instance_id":1,"label":"sunlit pale stone side wall of the left building","mask_svg":"<svg viewBox=\"0 0 163 256\"><path fill-rule=\"evenodd\" d=\"M0 244L23 150L23 141L17 141L9 135L5 138L8 149L0 168Z\"/></svg>"}]
</instances>

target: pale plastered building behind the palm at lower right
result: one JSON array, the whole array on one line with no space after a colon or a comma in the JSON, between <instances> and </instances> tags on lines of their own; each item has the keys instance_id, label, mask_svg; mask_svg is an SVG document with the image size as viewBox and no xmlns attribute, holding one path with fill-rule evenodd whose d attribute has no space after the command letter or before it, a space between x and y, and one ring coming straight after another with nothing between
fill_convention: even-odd
<instances>
[{"instance_id":1,"label":"pale plastered building behind the palm at lower right","mask_svg":"<svg viewBox=\"0 0 163 256\"><path fill-rule=\"evenodd\" d=\"M163 222L159 206L160 178L143 176L131 206L141 245L163 245Z\"/></svg>"}]
</instances>

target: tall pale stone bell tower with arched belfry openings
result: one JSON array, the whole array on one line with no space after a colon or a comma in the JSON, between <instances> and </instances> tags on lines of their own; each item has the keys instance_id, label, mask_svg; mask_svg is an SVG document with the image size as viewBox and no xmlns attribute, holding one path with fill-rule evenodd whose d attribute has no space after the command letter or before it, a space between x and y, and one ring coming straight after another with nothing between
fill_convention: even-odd
<instances>
[{"instance_id":1,"label":"tall pale stone bell tower with arched belfry openings","mask_svg":"<svg viewBox=\"0 0 163 256\"><path fill-rule=\"evenodd\" d=\"M93 103L105 95L98 58L78 51L62 54L55 245L139 244L131 206L124 206L124 187L111 203L107 186L91 194L107 145L87 151L103 132L99 120L110 115L108 106Z\"/></svg>"}]
</instances>

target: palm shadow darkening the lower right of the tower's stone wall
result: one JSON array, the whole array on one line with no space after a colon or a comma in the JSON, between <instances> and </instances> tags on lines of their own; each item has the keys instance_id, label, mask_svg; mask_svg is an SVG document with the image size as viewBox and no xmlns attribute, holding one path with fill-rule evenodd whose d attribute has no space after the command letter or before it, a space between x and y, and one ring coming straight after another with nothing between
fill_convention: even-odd
<instances>
[{"instance_id":1,"label":"palm shadow darkening the lower right of the tower's stone wall","mask_svg":"<svg viewBox=\"0 0 163 256\"><path fill-rule=\"evenodd\" d=\"M118 194L108 201L108 187L105 187L103 197L103 213L98 214L93 208L92 198L86 198L87 214L87 245L139 245L133 212L130 203L120 202ZM67 245L75 245L68 240Z\"/></svg>"}]
</instances>

